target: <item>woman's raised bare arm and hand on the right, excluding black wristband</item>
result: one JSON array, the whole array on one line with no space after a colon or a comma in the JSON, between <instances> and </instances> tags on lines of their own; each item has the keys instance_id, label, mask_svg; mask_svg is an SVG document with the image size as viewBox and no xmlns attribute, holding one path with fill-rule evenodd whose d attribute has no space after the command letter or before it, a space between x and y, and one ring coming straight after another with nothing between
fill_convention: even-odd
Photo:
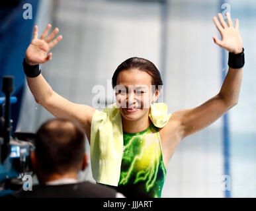
<instances>
[{"instance_id":1,"label":"woman's raised bare arm and hand on the right, excluding black wristband","mask_svg":"<svg viewBox=\"0 0 256 211\"><path fill-rule=\"evenodd\" d=\"M243 44L238 30L239 22L236 19L233 27L230 14L227 13L226 16L228 26L220 13L218 14L220 22L216 17L213 18L214 24L222 35L222 40L213 37L214 42L230 53L241 53ZM222 88L216 96L198 107L173 112L171 119L177 123L181 139L208 127L238 103L242 75L242 68L229 68Z\"/></svg>"}]
</instances>

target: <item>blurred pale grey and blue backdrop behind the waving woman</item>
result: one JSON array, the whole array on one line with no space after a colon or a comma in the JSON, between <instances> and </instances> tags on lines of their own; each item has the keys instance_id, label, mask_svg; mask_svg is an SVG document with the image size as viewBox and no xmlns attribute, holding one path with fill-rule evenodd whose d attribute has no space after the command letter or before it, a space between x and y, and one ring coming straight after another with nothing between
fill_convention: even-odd
<instances>
[{"instance_id":1,"label":"blurred pale grey and blue backdrop behind the waving woman","mask_svg":"<svg viewBox=\"0 0 256 211\"><path fill-rule=\"evenodd\" d=\"M32 5L31 19L24 19L26 3ZM42 65L42 75L64 98L92 106L93 86L111 90L116 67L137 56L152 61L161 72L163 101L171 113L199 106L220 91L228 52L212 40L219 36L212 17L227 10L233 20L239 19L245 48L239 102L225 117L181 141L169 163L162 196L256 197L253 0L1 1L0 76L15 76L13 95L19 104L13 106L14 129L34 132L52 117L36 104L22 72L35 24L38 34L51 23L63 36L52 49L52 61ZM107 96L112 103L111 94ZM93 181L90 167L80 177Z\"/></svg>"}]
</instances>

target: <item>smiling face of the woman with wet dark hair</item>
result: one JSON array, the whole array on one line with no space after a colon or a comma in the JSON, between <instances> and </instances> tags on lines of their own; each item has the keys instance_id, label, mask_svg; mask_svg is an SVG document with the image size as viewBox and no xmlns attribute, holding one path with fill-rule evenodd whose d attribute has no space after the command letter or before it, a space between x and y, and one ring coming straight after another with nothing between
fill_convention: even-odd
<instances>
[{"instance_id":1,"label":"smiling face of the woman with wet dark hair","mask_svg":"<svg viewBox=\"0 0 256 211\"><path fill-rule=\"evenodd\" d=\"M149 107L156 102L158 90L152 86L152 78L145 71L129 69L120 71L116 79L116 105L122 117L136 120L148 116Z\"/></svg>"}]
</instances>

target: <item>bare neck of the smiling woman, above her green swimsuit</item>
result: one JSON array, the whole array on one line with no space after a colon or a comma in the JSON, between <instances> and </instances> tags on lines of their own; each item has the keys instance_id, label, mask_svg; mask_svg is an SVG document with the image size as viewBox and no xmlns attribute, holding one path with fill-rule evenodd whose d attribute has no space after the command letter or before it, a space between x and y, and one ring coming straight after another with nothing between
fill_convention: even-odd
<instances>
[{"instance_id":1,"label":"bare neck of the smiling woman, above her green swimsuit","mask_svg":"<svg viewBox=\"0 0 256 211\"><path fill-rule=\"evenodd\" d=\"M148 115L132 121L124 119L124 117L122 117L122 130L125 133L140 133L146 130L149 127L150 123L151 121Z\"/></svg>"}]
</instances>

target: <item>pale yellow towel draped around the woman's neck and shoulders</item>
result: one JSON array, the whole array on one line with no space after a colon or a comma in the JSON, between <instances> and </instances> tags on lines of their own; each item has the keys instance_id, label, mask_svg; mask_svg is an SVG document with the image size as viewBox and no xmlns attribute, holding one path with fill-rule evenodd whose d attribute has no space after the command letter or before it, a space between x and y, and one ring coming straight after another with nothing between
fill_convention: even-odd
<instances>
[{"instance_id":1,"label":"pale yellow towel draped around the woman's neck and shoulders","mask_svg":"<svg viewBox=\"0 0 256 211\"><path fill-rule=\"evenodd\" d=\"M155 127L164 127L171 113L164 103L151 104L149 118ZM91 121L91 169L98 183L118 186L123 152L122 118L116 103L103 111L96 109Z\"/></svg>"}]
</instances>

